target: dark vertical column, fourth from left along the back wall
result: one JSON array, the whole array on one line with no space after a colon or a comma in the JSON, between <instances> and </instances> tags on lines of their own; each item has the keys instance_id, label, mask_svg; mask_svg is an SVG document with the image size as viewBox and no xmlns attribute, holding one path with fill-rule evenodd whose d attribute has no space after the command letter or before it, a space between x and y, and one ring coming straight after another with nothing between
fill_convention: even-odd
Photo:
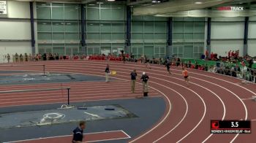
<instances>
[{"instance_id":1,"label":"dark vertical column, fourth from left along the back wall","mask_svg":"<svg viewBox=\"0 0 256 143\"><path fill-rule=\"evenodd\" d=\"M173 18L168 18L167 20L167 28L168 28L168 39L167 39L167 47L166 47L166 55L171 57L173 55Z\"/></svg>"}]
</instances>

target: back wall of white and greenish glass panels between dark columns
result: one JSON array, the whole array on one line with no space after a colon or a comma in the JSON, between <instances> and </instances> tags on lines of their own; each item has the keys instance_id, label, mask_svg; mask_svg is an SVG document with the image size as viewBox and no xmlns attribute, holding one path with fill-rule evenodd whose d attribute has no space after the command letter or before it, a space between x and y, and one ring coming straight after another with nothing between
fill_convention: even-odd
<instances>
[{"instance_id":1,"label":"back wall of white and greenish glass panels between dark columns","mask_svg":"<svg viewBox=\"0 0 256 143\"><path fill-rule=\"evenodd\" d=\"M126 42L124 3L86 4L87 53L115 53ZM81 51L80 5L34 3L36 53L77 54ZM10 53L31 53L29 2L7 1L8 15L0 15L0 61ZM206 47L206 18L173 18L173 55L200 58ZM256 17L249 18L249 55L256 55ZM163 58L167 46L167 18L132 16L131 51L136 57ZM211 51L243 55L244 18L212 18Z\"/></svg>"}]
</instances>

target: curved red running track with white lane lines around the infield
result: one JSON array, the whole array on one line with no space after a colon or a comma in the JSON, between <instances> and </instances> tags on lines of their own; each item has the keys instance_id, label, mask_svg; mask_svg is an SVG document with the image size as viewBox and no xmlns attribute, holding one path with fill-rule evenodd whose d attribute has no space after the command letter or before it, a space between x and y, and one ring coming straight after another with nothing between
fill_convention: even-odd
<instances>
[{"instance_id":1,"label":"curved red running track with white lane lines around the infield","mask_svg":"<svg viewBox=\"0 0 256 143\"><path fill-rule=\"evenodd\" d=\"M124 81L124 83L129 83L129 73L133 69L137 69L139 74L146 71L150 77L149 85L152 90L157 90L165 97L165 115L154 126L148 127L148 131L139 136L132 136L129 142L255 142L256 140L254 132L256 103L249 99L256 95L255 84L239 85L241 80L233 77L189 69L191 84L187 87L179 67L173 67L173 74L169 75L165 67L159 65L151 65L151 69L146 69L143 64L111 61L47 61L17 64L42 65L42 63L46 65L47 71L98 76L104 76L105 64L109 63L110 70L118 73L113 78L116 78L117 82ZM42 71L39 66L8 67L8 70L20 69L30 72ZM129 89L129 86L122 87L122 89L126 88ZM78 101L79 99L80 97ZM111 97L99 96L95 100L99 99L111 99ZM40 102L35 101L32 104L40 104ZM210 120L253 120L252 134L210 134Z\"/></svg>"}]
</instances>

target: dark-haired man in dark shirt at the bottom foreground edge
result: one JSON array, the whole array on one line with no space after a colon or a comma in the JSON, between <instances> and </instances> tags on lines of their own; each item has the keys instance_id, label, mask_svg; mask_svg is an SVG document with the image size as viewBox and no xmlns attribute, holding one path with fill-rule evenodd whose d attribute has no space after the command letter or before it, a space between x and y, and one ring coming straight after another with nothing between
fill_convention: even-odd
<instances>
[{"instance_id":1,"label":"dark-haired man in dark shirt at the bottom foreground edge","mask_svg":"<svg viewBox=\"0 0 256 143\"><path fill-rule=\"evenodd\" d=\"M82 143L83 142L83 130L86 128L86 122L80 121L79 126L73 130L72 143Z\"/></svg>"}]
</instances>

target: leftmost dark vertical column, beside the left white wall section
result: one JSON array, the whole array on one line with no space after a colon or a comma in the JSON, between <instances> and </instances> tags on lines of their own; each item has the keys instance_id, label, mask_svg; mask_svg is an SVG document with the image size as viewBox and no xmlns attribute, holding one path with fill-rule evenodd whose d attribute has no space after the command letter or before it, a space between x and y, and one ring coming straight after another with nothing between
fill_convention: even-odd
<instances>
[{"instance_id":1,"label":"leftmost dark vertical column, beside the left white wall section","mask_svg":"<svg viewBox=\"0 0 256 143\"><path fill-rule=\"evenodd\" d=\"M32 47L32 54L36 53L36 48L35 48L35 40L34 40L34 8L33 8L33 2L29 2L30 6L30 26L31 26L31 47Z\"/></svg>"}]
</instances>

